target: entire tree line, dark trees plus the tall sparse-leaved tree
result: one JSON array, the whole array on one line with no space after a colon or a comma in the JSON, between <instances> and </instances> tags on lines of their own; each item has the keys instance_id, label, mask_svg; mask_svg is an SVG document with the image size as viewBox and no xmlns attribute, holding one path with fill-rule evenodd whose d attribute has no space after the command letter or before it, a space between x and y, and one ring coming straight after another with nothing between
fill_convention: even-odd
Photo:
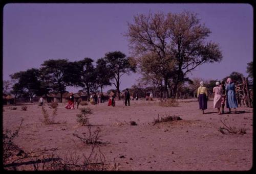
<instances>
[{"instance_id":1,"label":"entire tree line, dark trees plus the tall sparse-leaved tree","mask_svg":"<svg viewBox=\"0 0 256 174\"><path fill-rule=\"evenodd\" d=\"M210 29L201 23L197 14L158 12L134 16L124 34L130 43L133 57L121 52L105 54L93 65L91 58L70 62L67 59L48 60L39 69L28 69L11 75L15 81L13 93L30 97L49 91L65 92L67 86L91 90L114 85L120 97L120 78L138 70L140 84L149 85L167 97L176 97L178 89L194 84L187 74L205 63L223 59L218 43L208 41ZM248 68L249 67L249 68ZM247 70L252 77L252 62ZM213 82L212 82L213 83ZM120 99L120 98L119 98Z\"/></svg>"}]
</instances>

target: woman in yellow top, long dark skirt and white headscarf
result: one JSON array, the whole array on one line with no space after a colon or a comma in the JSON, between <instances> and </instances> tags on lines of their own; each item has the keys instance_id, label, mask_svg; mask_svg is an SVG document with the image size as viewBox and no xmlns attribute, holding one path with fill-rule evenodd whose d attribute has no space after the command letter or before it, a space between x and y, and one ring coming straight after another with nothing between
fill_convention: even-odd
<instances>
[{"instance_id":1,"label":"woman in yellow top, long dark skirt and white headscarf","mask_svg":"<svg viewBox=\"0 0 256 174\"><path fill-rule=\"evenodd\" d=\"M200 82L200 87L197 90L197 97L198 97L198 102L199 102L199 109L203 111L207 109L207 96L208 96L208 91L207 88L204 86L204 82Z\"/></svg>"}]
</instances>

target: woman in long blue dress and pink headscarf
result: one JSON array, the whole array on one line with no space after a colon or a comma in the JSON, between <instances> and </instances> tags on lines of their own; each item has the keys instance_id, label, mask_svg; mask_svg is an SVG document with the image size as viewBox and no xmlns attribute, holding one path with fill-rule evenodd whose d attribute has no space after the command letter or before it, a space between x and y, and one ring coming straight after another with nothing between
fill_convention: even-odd
<instances>
[{"instance_id":1,"label":"woman in long blue dress and pink headscarf","mask_svg":"<svg viewBox=\"0 0 256 174\"><path fill-rule=\"evenodd\" d=\"M236 98L236 88L230 78L227 79L225 89L227 91L227 108L229 110L229 113L231 113L231 108L234 108L234 113L237 113L236 108L238 108L238 102Z\"/></svg>"}]
</instances>

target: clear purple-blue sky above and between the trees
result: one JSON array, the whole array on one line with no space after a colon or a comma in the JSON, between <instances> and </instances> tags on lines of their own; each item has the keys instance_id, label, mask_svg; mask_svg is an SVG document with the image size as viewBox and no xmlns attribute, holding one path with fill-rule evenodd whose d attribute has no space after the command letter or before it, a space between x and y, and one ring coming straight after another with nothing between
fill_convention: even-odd
<instances>
[{"instance_id":1,"label":"clear purple-blue sky above and between the trees","mask_svg":"<svg viewBox=\"0 0 256 174\"><path fill-rule=\"evenodd\" d=\"M3 11L3 80L10 74L39 68L49 59L97 59L108 52L130 56L123 36L133 16L148 12L195 12L220 44L223 60L196 68L189 78L221 80L237 71L247 76L253 61L253 8L249 4L7 4ZM138 73L121 78L130 88ZM77 92L81 88L68 87ZM103 91L115 89L106 87Z\"/></svg>"}]
</instances>

